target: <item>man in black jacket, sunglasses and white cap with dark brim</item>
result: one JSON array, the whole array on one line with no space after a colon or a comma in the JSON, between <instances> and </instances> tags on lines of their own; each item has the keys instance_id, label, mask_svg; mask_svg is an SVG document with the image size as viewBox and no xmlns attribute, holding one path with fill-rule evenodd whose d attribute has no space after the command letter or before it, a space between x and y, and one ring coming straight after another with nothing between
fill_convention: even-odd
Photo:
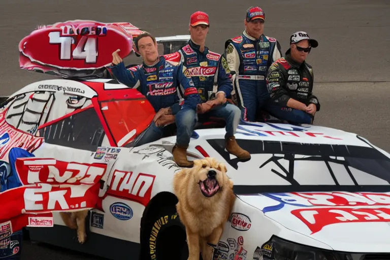
<instances>
[{"instance_id":1,"label":"man in black jacket, sunglasses and white cap with dark brim","mask_svg":"<svg viewBox=\"0 0 390 260\"><path fill-rule=\"evenodd\" d=\"M279 119L290 123L312 123L320 105L313 95L314 74L306 63L311 48L318 42L310 39L305 31L297 31L290 37L290 48L284 57L270 67L267 78L271 99L283 107L286 113Z\"/></svg>"}]
</instances>

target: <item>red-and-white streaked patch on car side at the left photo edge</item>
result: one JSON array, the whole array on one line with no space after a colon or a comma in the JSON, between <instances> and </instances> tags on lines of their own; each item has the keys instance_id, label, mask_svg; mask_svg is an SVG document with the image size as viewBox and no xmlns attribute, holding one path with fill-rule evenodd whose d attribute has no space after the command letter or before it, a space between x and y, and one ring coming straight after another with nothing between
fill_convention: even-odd
<instances>
[{"instance_id":1,"label":"red-and-white streaked patch on car side at the left photo edge","mask_svg":"<svg viewBox=\"0 0 390 260\"><path fill-rule=\"evenodd\" d=\"M8 109L0 113L0 136L8 134L9 140L0 145L0 159L8 162L8 153L14 147L23 148L28 152L35 151L43 143L42 137L35 137L24 133L6 121Z\"/></svg>"}]
</instances>

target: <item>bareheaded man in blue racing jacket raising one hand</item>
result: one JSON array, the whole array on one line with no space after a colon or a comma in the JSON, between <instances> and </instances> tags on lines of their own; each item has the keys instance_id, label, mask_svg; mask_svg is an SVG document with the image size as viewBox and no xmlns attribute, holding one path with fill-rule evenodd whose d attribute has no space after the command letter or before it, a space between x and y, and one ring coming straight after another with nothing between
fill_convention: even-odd
<instances>
[{"instance_id":1,"label":"bareheaded man in blue racing jacket raising one hand","mask_svg":"<svg viewBox=\"0 0 390 260\"><path fill-rule=\"evenodd\" d=\"M134 145L139 146L164 136L165 126L175 122L174 115L180 110L179 96L184 98L185 106L194 110L201 101L193 82L183 75L183 65L158 55L157 42L152 35L143 32L134 42L143 63L127 70L118 49L112 53L113 65L108 69L120 83L137 88L156 111L150 126L134 140ZM179 85L183 93L178 95Z\"/></svg>"}]
</instances>

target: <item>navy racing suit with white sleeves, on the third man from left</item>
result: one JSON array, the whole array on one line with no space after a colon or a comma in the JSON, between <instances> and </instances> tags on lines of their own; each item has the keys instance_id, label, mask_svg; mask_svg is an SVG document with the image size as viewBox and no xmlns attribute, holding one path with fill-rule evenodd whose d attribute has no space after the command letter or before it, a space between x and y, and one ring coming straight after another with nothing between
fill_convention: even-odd
<instances>
[{"instance_id":1,"label":"navy racing suit with white sleeves, on the third man from left","mask_svg":"<svg viewBox=\"0 0 390 260\"><path fill-rule=\"evenodd\" d=\"M259 39L242 35L225 42L225 55L232 74L233 92L245 121L255 121L256 112L266 110L277 117L280 106L271 101L267 89L267 72L281 57L279 42L262 35Z\"/></svg>"}]
</instances>

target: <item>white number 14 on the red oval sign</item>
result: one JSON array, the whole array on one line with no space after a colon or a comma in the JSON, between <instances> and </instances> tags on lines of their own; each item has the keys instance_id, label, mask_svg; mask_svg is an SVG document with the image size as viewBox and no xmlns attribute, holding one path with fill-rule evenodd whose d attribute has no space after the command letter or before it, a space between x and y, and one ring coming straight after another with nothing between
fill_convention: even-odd
<instances>
[{"instance_id":1,"label":"white number 14 on the red oval sign","mask_svg":"<svg viewBox=\"0 0 390 260\"><path fill-rule=\"evenodd\" d=\"M72 52L73 58L85 59L87 63L96 63L96 57L98 57L96 41L95 37L82 36ZM60 59L71 59L72 44L75 44L73 37L61 37L59 31L52 31L49 32L49 43L61 46Z\"/></svg>"}]
</instances>

